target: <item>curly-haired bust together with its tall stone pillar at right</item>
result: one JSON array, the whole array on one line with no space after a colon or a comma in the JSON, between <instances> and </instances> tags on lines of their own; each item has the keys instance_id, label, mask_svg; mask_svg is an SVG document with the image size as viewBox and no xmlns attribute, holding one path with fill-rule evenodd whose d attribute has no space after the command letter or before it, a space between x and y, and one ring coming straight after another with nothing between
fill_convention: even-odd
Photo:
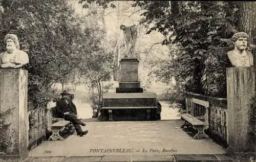
<instances>
[{"instance_id":1,"label":"curly-haired bust together with its tall stone pillar at right","mask_svg":"<svg viewBox=\"0 0 256 162\"><path fill-rule=\"evenodd\" d=\"M238 159L255 153L252 98L254 97L253 57L247 50L248 35L238 32L232 36L234 49L227 53L234 67L227 68L227 141L228 153Z\"/></svg>"}]
</instances>

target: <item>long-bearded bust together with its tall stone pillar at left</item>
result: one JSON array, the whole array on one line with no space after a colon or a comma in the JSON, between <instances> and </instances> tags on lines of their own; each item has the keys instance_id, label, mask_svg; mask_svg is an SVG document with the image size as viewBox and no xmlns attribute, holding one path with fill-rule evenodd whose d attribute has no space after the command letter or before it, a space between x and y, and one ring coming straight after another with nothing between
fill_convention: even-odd
<instances>
[{"instance_id":1,"label":"long-bearded bust together with its tall stone pillar at left","mask_svg":"<svg viewBox=\"0 0 256 162\"><path fill-rule=\"evenodd\" d=\"M8 123L0 128L1 159L21 160L28 156L28 71L21 68L29 61L19 50L17 36L5 36L7 51L0 54L0 118ZM4 138L4 139L3 139Z\"/></svg>"}]
</instances>

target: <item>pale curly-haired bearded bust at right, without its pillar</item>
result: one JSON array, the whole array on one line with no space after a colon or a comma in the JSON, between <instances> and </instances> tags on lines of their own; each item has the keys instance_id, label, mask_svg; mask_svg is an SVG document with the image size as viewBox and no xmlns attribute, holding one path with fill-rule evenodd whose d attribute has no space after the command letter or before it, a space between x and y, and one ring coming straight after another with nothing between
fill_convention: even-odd
<instances>
[{"instance_id":1,"label":"pale curly-haired bearded bust at right, without its pillar","mask_svg":"<svg viewBox=\"0 0 256 162\"><path fill-rule=\"evenodd\" d=\"M252 54L247 49L248 34L238 32L232 36L234 42L234 49L227 53L231 64L234 67L249 67L253 66Z\"/></svg>"}]
</instances>

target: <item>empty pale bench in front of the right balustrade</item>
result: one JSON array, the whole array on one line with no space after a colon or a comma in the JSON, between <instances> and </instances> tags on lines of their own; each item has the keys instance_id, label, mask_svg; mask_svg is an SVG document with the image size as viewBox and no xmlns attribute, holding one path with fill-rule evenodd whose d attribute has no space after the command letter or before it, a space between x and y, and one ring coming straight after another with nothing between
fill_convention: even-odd
<instances>
[{"instance_id":1,"label":"empty pale bench in front of the right balustrade","mask_svg":"<svg viewBox=\"0 0 256 162\"><path fill-rule=\"evenodd\" d=\"M194 104L198 104L201 106L204 106L206 108L205 114L201 117L193 117L189 113L184 113L184 112L189 112L190 109L188 110L183 110L181 111L181 119L185 120L185 123L181 126L181 128L184 128L184 126L192 126L195 130L197 130L197 134L194 135L194 139L202 139L202 138L209 138L209 136L204 132L206 129L209 128L209 123L208 123L208 108L209 108L209 102L199 100L199 99L192 99L192 102ZM204 122L201 120L203 119Z\"/></svg>"}]
</instances>

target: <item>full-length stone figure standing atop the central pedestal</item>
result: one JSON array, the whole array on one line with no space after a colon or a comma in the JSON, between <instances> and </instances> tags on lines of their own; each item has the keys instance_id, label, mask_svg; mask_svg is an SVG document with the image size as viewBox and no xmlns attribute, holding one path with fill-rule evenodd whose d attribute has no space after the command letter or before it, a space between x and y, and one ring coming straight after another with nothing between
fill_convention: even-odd
<instances>
[{"instance_id":1,"label":"full-length stone figure standing atop the central pedestal","mask_svg":"<svg viewBox=\"0 0 256 162\"><path fill-rule=\"evenodd\" d=\"M120 29L123 30L123 45L125 43L126 49L127 49L127 54L125 54L124 57L137 58L137 56L135 56L135 44L137 41L137 34L138 34L136 25L133 25L130 27L121 25Z\"/></svg>"}]
</instances>

